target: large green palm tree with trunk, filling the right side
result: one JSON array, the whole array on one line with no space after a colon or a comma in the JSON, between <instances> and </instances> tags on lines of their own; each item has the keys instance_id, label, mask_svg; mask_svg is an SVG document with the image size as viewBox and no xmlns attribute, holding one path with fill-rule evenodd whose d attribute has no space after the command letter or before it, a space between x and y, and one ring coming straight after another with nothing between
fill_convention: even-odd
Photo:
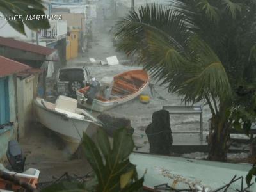
<instances>
[{"instance_id":1,"label":"large green palm tree with trunk, filling the right side","mask_svg":"<svg viewBox=\"0 0 256 192\"><path fill-rule=\"evenodd\" d=\"M248 130L255 120L255 108L248 103L255 97L249 85L256 77L256 2L170 4L131 10L115 25L114 35L122 40L117 47L136 55L152 77L182 96L183 102L209 105L213 129L209 159L225 161L230 129L236 125Z\"/></svg>"}]
</instances>

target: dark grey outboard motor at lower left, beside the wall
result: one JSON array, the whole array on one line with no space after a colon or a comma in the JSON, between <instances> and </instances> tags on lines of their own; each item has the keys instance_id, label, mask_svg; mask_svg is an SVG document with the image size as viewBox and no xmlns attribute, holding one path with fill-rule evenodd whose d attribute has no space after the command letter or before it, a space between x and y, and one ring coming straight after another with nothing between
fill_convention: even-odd
<instances>
[{"instance_id":1,"label":"dark grey outboard motor at lower left, beside the wall","mask_svg":"<svg viewBox=\"0 0 256 192\"><path fill-rule=\"evenodd\" d=\"M17 141L11 140L8 142L7 159L14 172L24 172L25 157L23 156L20 145Z\"/></svg>"}]
</instances>

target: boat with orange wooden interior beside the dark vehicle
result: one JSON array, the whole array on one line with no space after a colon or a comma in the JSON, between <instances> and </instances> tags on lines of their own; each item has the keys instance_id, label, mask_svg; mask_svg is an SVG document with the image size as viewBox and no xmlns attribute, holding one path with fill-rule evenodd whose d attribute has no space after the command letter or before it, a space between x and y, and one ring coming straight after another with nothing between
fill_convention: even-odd
<instances>
[{"instance_id":1,"label":"boat with orange wooden interior beside the dark vehicle","mask_svg":"<svg viewBox=\"0 0 256 192\"><path fill-rule=\"evenodd\" d=\"M89 86L77 90L77 103L93 111L106 111L134 99L145 90L149 83L149 76L145 70L129 70L112 77L112 79L113 82L107 85L100 82L100 91L92 104L88 104L86 96L84 96L88 92Z\"/></svg>"}]
</instances>

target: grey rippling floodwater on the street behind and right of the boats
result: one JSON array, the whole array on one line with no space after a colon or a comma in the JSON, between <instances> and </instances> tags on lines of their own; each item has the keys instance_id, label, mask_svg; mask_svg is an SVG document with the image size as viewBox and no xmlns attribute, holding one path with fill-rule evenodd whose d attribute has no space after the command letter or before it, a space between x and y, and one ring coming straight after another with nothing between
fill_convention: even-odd
<instances>
[{"instance_id":1,"label":"grey rippling floodwater on the street behind and right of the boats","mask_svg":"<svg viewBox=\"0 0 256 192\"><path fill-rule=\"evenodd\" d=\"M104 20L102 13L102 3L97 6L97 19L93 20L93 41L92 48L84 52L74 60L70 60L67 66L86 66L90 70L93 77L96 77L98 81L105 76L115 76L121 72L127 70L140 69L143 66L138 63L132 62L131 58L128 58L123 52L116 51L116 47L113 44L113 36L111 29L115 24L115 20ZM118 20L118 19L116 19ZM100 65L100 61L106 63L106 58L109 56L116 56L119 61L119 65ZM92 63L90 58L94 59ZM163 105L172 106L184 106L181 102L181 98L173 93L169 93L164 86L159 86L157 81L151 80L154 84L154 97L149 87L146 88L144 94L150 96L150 102L143 104L138 98L126 102L120 106L116 106L113 109L105 111L111 116L125 117L131 120L131 125L135 129L134 140L138 145L147 143L147 136L145 136L145 128L150 124L152 120L152 113L162 109ZM152 90L154 91L154 90ZM202 104L194 104L194 106L202 106ZM208 119L211 118L211 113L208 106L203 107L203 130L206 136L209 132ZM199 140L199 115L171 115L170 123L173 132L173 143L182 143L182 136L180 132L187 132L188 137L193 137L193 140ZM177 138L175 139L175 134ZM204 140L205 140L204 136ZM193 142L192 140L190 140ZM145 151L146 150L146 151ZM147 152L147 149L143 149Z\"/></svg>"}]
</instances>

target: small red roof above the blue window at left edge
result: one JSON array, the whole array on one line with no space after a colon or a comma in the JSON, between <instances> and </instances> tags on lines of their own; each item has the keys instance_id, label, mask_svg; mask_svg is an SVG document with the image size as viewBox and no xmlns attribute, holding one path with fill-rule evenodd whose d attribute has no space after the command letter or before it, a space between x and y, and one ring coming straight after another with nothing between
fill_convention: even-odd
<instances>
[{"instance_id":1,"label":"small red roof above the blue window at left edge","mask_svg":"<svg viewBox=\"0 0 256 192\"><path fill-rule=\"evenodd\" d=\"M31 67L28 65L0 56L0 77L10 76L11 74L22 72L29 68Z\"/></svg>"}]
</instances>

